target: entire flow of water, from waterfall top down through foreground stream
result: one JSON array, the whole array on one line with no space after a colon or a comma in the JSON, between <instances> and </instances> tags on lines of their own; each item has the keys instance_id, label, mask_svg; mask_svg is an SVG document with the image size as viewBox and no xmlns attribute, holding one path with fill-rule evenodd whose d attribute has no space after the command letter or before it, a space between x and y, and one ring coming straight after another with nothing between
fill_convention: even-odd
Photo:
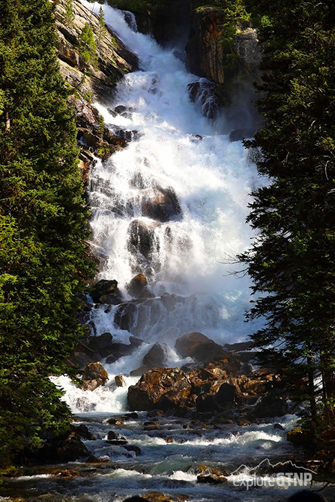
<instances>
[{"instance_id":1,"label":"entire flow of water, from waterfall top down through foreground stream","mask_svg":"<svg viewBox=\"0 0 335 502\"><path fill-rule=\"evenodd\" d=\"M88 325L92 336L108 332L113 342L130 344L133 335L143 343L114 364L103 360L110 379L96 390L76 388L68 377L54 379L65 390L76 425L85 424L94 436L85 445L99 461L25 468L23 476L3 483L0 500L121 502L163 492L180 502L285 501L299 482L272 474L278 474L276 463L302 456L286 440L295 415L237 426L210 417L128 412L127 389L138 380L130 371L153 344L164 343L166 366L181 367L192 359L176 353L177 337L199 331L225 344L257 329L244 322L250 281L238 278L238 269L230 273L234 266L224 262L250 245L248 194L264 180L242 143L221 134L224 116L209 120L201 103L192 103L188 85L199 78L185 70L180 51L138 33L130 13L132 26L121 11L103 8L106 23L139 57L141 70L123 78L110 105L94 103L105 124L132 141L105 163L98 160L90 173L92 248L103 257L98 279L117 280L124 302L132 300L127 284L139 273L150 295L134 304L127 328L114 323L118 307L105 304L93 306ZM119 374L123 387L113 383ZM114 425L108 423L113 417ZM108 439L111 431L121 443ZM213 470L221 473L221 483L199 482L199 475Z\"/></svg>"}]
</instances>

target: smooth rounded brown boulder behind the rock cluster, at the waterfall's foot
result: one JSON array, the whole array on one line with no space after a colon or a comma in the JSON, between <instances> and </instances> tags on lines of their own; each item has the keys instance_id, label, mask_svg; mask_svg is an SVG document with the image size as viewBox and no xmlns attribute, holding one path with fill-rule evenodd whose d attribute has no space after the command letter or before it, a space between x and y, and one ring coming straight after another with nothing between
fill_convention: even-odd
<instances>
[{"instance_id":1,"label":"smooth rounded brown boulder behind the rock cluster, at the waterfall's foot","mask_svg":"<svg viewBox=\"0 0 335 502\"><path fill-rule=\"evenodd\" d=\"M200 362L227 357L223 346L216 344L203 333L187 333L176 339L174 346L181 357L192 357Z\"/></svg>"}]
</instances>

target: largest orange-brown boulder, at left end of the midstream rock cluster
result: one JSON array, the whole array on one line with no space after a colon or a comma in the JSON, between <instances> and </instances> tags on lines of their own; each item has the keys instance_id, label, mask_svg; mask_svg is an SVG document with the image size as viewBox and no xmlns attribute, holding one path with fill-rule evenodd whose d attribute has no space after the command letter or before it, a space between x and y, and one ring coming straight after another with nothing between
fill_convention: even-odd
<instances>
[{"instance_id":1,"label":"largest orange-brown boulder, at left end of the midstream rock cluster","mask_svg":"<svg viewBox=\"0 0 335 502\"><path fill-rule=\"evenodd\" d=\"M187 406L191 383L179 368L154 368L128 389L131 410L168 410Z\"/></svg>"}]
</instances>

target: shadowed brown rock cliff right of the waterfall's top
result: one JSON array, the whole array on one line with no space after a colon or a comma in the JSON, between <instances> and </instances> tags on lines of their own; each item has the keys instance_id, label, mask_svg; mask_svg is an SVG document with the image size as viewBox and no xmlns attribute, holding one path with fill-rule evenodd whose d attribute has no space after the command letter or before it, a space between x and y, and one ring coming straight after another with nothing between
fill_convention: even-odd
<instances>
[{"instance_id":1,"label":"shadowed brown rock cliff right of the waterfall's top","mask_svg":"<svg viewBox=\"0 0 335 502\"><path fill-rule=\"evenodd\" d=\"M243 101L245 117L249 116L252 123L256 118L253 83L261 81L261 49L256 30L236 30L230 46L225 42L226 30L223 10L215 7L194 10L185 48L187 65L192 73L216 83L219 105L227 107L231 116L240 113L238 103ZM245 117L241 120L244 124Z\"/></svg>"}]
</instances>

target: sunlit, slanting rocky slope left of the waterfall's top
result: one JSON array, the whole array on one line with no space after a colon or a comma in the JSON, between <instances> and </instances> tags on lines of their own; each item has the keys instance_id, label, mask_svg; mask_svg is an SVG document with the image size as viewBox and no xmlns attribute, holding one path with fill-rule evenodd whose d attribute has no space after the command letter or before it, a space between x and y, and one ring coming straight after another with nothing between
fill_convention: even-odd
<instances>
[{"instance_id":1,"label":"sunlit, slanting rocky slope left of the waterfall's top","mask_svg":"<svg viewBox=\"0 0 335 502\"><path fill-rule=\"evenodd\" d=\"M93 154L108 158L114 151L125 147L135 134L123 130L112 132L105 127L92 101L109 101L115 83L127 72L137 70L138 61L110 28L105 26L101 30L97 16L79 0L72 1L72 19L66 14L66 0L54 3L59 36L59 63L65 82L74 90L68 98L68 104L74 111L77 123L79 169L86 182L88 171L94 163ZM85 57L81 43L81 34L86 24L92 30L96 45L91 61Z\"/></svg>"}]
</instances>

